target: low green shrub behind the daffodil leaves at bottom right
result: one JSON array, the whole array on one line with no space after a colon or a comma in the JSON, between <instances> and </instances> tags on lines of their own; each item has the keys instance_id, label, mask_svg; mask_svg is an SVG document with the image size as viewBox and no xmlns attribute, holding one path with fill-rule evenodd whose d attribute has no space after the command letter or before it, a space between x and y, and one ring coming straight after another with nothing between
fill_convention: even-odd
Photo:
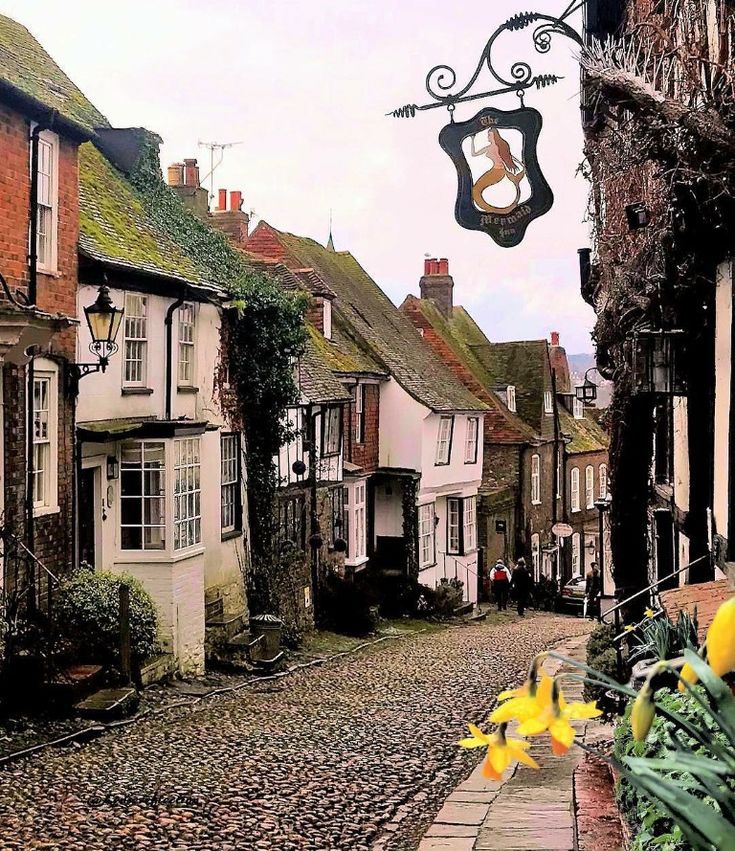
<instances>
[{"instance_id":1,"label":"low green shrub behind the daffodil leaves at bottom right","mask_svg":"<svg viewBox=\"0 0 735 851\"><path fill-rule=\"evenodd\" d=\"M698 691L702 697L706 698L704 689L699 688ZM728 746L727 738L712 716L688 694L661 689L656 694L656 703L675 712L686 721L693 722L708 738L725 747ZM670 751L670 735L675 730L675 725L659 714L653 722L646 741L636 742L630 725L631 707L632 704L629 703L625 715L615 728L616 758L622 761L625 757L654 759L664 757L667 751ZM690 736L679 733L679 738L694 753L708 755L704 747ZM686 771L668 771L662 777L662 780L666 779L675 781L677 785L689 791L695 790L695 778ZM647 851L651 847L662 848L664 851L685 851L691 847L684 838L681 828L663 807L648 798L625 777L618 781L616 796L618 806L635 834L630 851Z\"/></svg>"}]
</instances>

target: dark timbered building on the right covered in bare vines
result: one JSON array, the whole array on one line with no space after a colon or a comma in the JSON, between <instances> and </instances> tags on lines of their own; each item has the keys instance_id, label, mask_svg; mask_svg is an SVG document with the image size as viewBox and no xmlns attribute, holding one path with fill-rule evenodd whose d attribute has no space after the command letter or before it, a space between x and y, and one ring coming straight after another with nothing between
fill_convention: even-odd
<instances>
[{"instance_id":1,"label":"dark timbered building on the right covered in bare vines","mask_svg":"<svg viewBox=\"0 0 735 851\"><path fill-rule=\"evenodd\" d=\"M733 561L734 14L707 0L586 7L595 238L582 293L614 381L622 596L721 576Z\"/></svg>"}]
</instances>

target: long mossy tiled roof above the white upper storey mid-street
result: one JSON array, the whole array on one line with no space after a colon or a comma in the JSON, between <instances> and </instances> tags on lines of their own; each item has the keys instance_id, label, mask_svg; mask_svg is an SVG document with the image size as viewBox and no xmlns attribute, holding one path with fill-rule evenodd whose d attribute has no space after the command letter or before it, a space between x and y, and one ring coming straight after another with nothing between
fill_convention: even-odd
<instances>
[{"instance_id":1,"label":"long mossy tiled roof above the white upper storey mid-street","mask_svg":"<svg viewBox=\"0 0 735 851\"><path fill-rule=\"evenodd\" d=\"M411 322L347 251L330 251L312 239L260 222L248 250L309 267L336 294L334 313L370 355L418 402L437 412L484 411L486 406L455 378L423 342Z\"/></svg>"}]
</instances>

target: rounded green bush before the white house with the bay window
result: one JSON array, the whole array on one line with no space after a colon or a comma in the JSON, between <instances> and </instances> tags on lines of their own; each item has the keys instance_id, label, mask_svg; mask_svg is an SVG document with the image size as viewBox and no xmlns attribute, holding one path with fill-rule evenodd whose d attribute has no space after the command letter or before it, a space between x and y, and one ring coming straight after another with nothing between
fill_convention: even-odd
<instances>
[{"instance_id":1,"label":"rounded green bush before the white house with the bay window","mask_svg":"<svg viewBox=\"0 0 735 851\"><path fill-rule=\"evenodd\" d=\"M59 637L78 658L120 662L120 585L130 588L130 648L134 662L157 651L156 606L132 576L78 569L62 582L55 602Z\"/></svg>"}]
</instances>

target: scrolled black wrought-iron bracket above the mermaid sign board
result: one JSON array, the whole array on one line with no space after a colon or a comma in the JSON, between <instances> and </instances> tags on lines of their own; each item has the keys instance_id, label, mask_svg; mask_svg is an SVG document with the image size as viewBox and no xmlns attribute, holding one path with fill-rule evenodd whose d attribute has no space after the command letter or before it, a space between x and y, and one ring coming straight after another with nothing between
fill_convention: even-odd
<instances>
[{"instance_id":1,"label":"scrolled black wrought-iron bracket above the mermaid sign board","mask_svg":"<svg viewBox=\"0 0 735 851\"><path fill-rule=\"evenodd\" d=\"M485 49L480 55L480 60L477 63L474 73L464 86L452 91L457 83L456 71L449 65L435 65L426 75L426 91L435 102L421 106L415 103L406 104L387 113L387 115L392 115L394 118L413 118L417 112L436 109L440 106L447 107L450 113L452 113L458 103L510 94L512 92L515 92L521 98L522 102L523 94L527 89L532 87L541 89L558 83L559 80L563 79L562 77L556 74L534 74L529 63L522 60L514 62L507 74L501 74L493 64L493 47L503 33L523 30L532 25L535 25L532 38L533 46L537 53L549 52L552 36L555 34L566 36L582 47L584 44L582 37L573 27L566 23L566 18L584 6L585 3L586 0L572 0L559 17L544 15L540 12L522 12L514 15L498 27L490 36ZM477 82L485 66L500 86L489 89L488 91L470 94L470 90Z\"/></svg>"}]
</instances>

